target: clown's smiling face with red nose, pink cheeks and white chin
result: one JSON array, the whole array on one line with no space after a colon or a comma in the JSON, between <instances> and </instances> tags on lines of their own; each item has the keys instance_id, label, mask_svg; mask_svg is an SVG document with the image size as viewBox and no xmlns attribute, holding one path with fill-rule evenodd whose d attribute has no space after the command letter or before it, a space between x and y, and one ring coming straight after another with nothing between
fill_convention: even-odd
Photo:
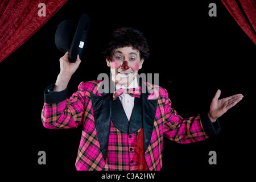
<instances>
[{"instance_id":1,"label":"clown's smiling face with red nose, pink cheeks and white chin","mask_svg":"<svg viewBox=\"0 0 256 182\"><path fill-rule=\"evenodd\" d=\"M139 56L139 51L132 47L117 48L112 51L111 57L106 58L106 63L110 67L112 80L115 84L124 86L130 83L137 76L142 68L144 59Z\"/></svg>"}]
</instances>

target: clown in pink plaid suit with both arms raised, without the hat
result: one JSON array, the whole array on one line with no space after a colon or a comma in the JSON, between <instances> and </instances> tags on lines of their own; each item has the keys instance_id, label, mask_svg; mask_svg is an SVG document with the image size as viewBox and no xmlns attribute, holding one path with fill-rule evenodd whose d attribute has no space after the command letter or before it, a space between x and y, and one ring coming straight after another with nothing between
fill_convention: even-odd
<instances>
[{"instance_id":1,"label":"clown in pink plaid suit with both arms raised, without the hat","mask_svg":"<svg viewBox=\"0 0 256 182\"><path fill-rule=\"evenodd\" d=\"M76 159L77 170L160 170L163 137L192 143L220 132L219 117L242 100L242 94L220 97L217 90L207 113L182 118L171 107L167 90L139 82L137 74L150 54L143 34L133 28L117 28L104 51L115 92L99 92L104 81L81 82L67 98L68 82L79 68L80 57L60 58L55 84L44 91L42 121L48 129L82 125ZM147 92L141 92L146 85ZM156 98L150 98L156 92Z\"/></svg>"}]
</instances>

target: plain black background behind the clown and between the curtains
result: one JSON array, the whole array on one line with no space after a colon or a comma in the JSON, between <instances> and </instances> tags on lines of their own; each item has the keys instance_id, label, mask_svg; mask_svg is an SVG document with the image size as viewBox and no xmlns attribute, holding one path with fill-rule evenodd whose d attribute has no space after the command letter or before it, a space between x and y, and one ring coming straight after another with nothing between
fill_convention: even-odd
<instances>
[{"instance_id":1,"label":"plain black background behind the clown and between the curtains","mask_svg":"<svg viewBox=\"0 0 256 182\"><path fill-rule=\"evenodd\" d=\"M211 2L217 5L217 17L208 15ZM203 0L68 1L0 64L4 167L29 175L77 175L81 127L45 129L40 114L43 91L56 81L59 58L64 54L54 43L56 28L63 20L77 19L82 13L89 15L90 30L82 63L69 82L69 96L81 81L97 80L99 73L109 73L101 49L113 28L138 28L151 49L140 73L159 73L160 86L168 90L172 107L182 117L208 109L217 89L221 89L221 98L237 93L244 96L219 118L222 131L216 137L183 145L164 138L158 179L171 180L188 172L193 172L195 179L205 173L209 173L208 178L220 173L225 177L250 174L255 144L255 45L221 1ZM38 164L39 151L46 152L46 165ZM217 152L216 165L208 163L209 151ZM86 173L96 179L100 175Z\"/></svg>"}]
</instances>

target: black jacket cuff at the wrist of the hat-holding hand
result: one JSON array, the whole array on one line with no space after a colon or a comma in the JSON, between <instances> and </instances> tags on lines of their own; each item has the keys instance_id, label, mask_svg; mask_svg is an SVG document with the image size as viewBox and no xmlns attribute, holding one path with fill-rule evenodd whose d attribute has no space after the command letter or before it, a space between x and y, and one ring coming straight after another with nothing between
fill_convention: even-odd
<instances>
[{"instance_id":1,"label":"black jacket cuff at the wrist of the hat-holding hand","mask_svg":"<svg viewBox=\"0 0 256 182\"><path fill-rule=\"evenodd\" d=\"M44 102L46 104L56 104L64 101L68 97L68 87L60 92L53 92L52 89L54 85L55 84L51 84L44 90Z\"/></svg>"}]
</instances>

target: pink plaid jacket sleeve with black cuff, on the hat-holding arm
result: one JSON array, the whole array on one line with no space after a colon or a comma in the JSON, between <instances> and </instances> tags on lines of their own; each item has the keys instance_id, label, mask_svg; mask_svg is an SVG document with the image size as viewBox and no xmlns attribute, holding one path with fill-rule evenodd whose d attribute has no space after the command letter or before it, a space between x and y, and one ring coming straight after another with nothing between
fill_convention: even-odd
<instances>
[{"instance_id":1,"label":"pink plaid jacket sleeve with black cuff, on the hat-holding arm","mask_svg":"<svg viewBox=\"0 0 256 182\"><path fill-rule=\"evenodd\" d=\"M54 84L44 90L44 106L41 113L43 126L47 129L77 128L82 124L84 115L85 92L83 82L79 89L67 98L68 89L53 92Z\"/></svg>"}]
</instances>

